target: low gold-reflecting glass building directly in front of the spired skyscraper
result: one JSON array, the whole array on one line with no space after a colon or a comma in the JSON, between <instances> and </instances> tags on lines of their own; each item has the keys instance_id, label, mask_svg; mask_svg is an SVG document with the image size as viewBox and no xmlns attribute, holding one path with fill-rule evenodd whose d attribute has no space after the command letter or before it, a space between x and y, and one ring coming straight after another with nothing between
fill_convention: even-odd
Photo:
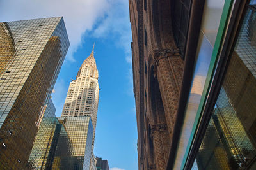
<instances>
[{"instance_id":1,"label":"low gold-reflecting glass building directly in front of the spired skyscraper","mask_svg":"<svg viewBox=\"0 0 256 170\"><path fill-rule=\"evenodd\" d=\"M70 168L89 169L93 140L91 118L88 116L60 117L58 120L63 121L68 138L71 142L72 150L68 153L63 151L65 150L65 147L62 146L63 139L66 139L66 137L59 139L52 168L65 169L68 164ZM61 136L66 136L65 132L63 132L64 131L61 131L60 138L62 138ZM67 157L63 154L66 154Z\"/></svg>"}]
</instances>

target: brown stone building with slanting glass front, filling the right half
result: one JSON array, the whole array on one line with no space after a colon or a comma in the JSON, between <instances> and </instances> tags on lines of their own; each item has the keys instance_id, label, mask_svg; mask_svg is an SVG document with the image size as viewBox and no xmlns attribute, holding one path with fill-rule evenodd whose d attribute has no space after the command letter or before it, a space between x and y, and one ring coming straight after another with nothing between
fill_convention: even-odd
<instances>
[{"instance_id":1,"label":"brown stone building with slanting glass front, filling the right half","mask_svg":"<svg viewBox=\"0 0 256 170\"><path fill-rule=\"evenodd\" d=\"M139 169L256 169L256 1L129 1Z\"/></svg>"}]
</instances>

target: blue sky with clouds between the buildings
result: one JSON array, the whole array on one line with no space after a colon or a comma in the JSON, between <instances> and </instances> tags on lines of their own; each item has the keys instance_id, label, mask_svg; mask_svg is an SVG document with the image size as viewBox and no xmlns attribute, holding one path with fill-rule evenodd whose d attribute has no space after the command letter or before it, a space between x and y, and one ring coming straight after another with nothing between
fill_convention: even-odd
<instances>
[{"instance_id":1,"label":"blue sky with clouds between the buildings","mask_svg":"<svg viewBox=\"0 0 256 170\"><path fill-rule=\"evenodd\" d=\"M111 170L138 169L132 92L131 24L127 0L0 1L0 22L63 16L70 48L52 100L60 116L71 78L95 42L99 70L99 110L94 153Z\"/></svg>"}]
</instances>

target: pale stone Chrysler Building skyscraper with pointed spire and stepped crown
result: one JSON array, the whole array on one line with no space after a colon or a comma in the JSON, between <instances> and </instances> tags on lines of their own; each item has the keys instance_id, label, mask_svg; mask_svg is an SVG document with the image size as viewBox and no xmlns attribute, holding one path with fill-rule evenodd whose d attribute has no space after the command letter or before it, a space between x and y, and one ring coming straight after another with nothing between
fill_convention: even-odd
<instances>
[{"instance_id":1,"label":"pale stone Chrysler Building skyscraper with pointed spire and stepped crown","mask_svg":"<svg viewBox=\"0 0 256 170\"><path fill-rule=\"evenodd\" d=\"M93 125L92 143L94 143L99 102L99 74L94 59L93 49L92 53L84 60L80 67L76 80L72 80L69 85L61 115L61 117L90 116Z\"/></svg>"}]
</instances>

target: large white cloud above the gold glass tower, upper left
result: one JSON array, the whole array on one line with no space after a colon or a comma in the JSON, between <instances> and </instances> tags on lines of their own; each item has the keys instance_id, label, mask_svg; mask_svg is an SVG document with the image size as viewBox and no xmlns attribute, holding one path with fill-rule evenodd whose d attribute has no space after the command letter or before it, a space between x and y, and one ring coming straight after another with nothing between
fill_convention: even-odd
<instances>
[{"instance_id":1,"label":"large white cloud above the gold glass tower, upper left","mask_svg":"<svg viewBox=\"0 0 256 170\"><path fill-rule=\"evenodd\" d=\"M74 62L73 53L81 45L84 32L91 30L108 9L108 0L0 1L0 22L63 16L70 40L66 59Z\"/></svg>"}]
</instances>

